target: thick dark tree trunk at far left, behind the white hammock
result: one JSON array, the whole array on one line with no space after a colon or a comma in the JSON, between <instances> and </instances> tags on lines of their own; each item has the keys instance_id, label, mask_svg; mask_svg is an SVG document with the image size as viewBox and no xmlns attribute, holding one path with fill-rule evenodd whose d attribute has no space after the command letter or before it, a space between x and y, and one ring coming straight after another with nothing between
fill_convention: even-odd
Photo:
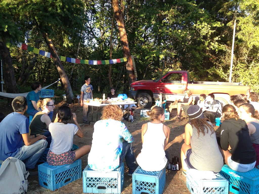
<instances>
[{"instance_id":1,"label":"thick dark tree trunk at far left, behind the white hammock","mask_svg":"<svg viewBox=\"0 0 259 194\"><path fill-rule=\"evenodd\" d=\"M15 73L13 71L12 57L10 50L6 47L5 38L0 40L0 54L2 57L3 78L5 80L6 92L17 94L18 88L15 81ZM8 103L10 103L11 100L12 99L8 98Z\"/></svg>"}]
</instances>

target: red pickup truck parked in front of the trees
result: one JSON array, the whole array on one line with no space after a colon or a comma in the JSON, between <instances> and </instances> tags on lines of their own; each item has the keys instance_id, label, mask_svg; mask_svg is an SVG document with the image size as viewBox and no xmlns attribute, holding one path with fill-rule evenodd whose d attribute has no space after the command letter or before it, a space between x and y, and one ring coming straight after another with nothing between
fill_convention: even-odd
<instances>
[{"instance_id":1,"label":"red pickup truck parked in front of the trees","mask_svg":"<svg viewBox=\"0 0 259 194\"><path fill-rule=\"evenodd\" d=\"M235 94L250 93L250 86L242 83L213 82L213 81L189 81L188 71L169 71L155 80L135 81L131 84L129 94L138 99L140 108L149 108L160 93L166 95L167 101L174 102L182 99L184 90L190 89L193 98L197 102L200 94L215 95L215 99L226 105L230 96Z\"/></svg>"}]
</instances>

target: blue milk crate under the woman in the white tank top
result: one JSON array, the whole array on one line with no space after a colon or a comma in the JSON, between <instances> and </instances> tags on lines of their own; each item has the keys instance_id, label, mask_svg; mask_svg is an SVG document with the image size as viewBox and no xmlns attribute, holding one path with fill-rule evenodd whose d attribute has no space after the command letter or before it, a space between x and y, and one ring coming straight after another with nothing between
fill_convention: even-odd
<instances>
[{"instance_id":1,"label":"blue milk crate under the woman in the white tank top","mask_svg":"<svg viewBox=\"0 0 259 194\"><path fill-rule=\"evenodd\" d=\"M132 174L132 194L162 194L166 184L166 168L146 171L140 166Z\"/></svg>"}]
</instances>

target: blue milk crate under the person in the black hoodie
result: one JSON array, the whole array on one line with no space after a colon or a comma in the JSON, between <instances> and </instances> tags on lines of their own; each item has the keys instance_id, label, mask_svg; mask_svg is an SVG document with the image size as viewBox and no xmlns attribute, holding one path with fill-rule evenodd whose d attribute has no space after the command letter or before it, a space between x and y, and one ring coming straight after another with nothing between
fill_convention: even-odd
<instances>
[{"instance_id":1,"label":"blue milk crate under the person in the black hoodie","mask_svg":"<svg viewBox=\"0 0 259 194\"><path fill-rule=\"evenodd\" d=\"M259 169L257 167L246 173L240 173L224 165L220 174L229 182L229 191L235 194L259 193Z\"/></svg>"}]
</instances>

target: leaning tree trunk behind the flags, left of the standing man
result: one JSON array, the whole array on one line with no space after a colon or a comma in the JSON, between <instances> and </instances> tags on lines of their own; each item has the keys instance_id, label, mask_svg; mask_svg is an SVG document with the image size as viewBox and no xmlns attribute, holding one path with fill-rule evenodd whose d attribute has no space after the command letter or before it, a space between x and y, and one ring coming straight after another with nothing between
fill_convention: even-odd
<instances>
[{"instance_id":1,"label":"leaning tree trunk behind the flags, left of the standing man","mask_svg":"<svg viewBox=\"0 0 259 194\"><path fill-rule=\"evenodd\" d=\"M59 72L61 81L62 81L62 83L64 85L67 102L68 103L72 103L74 95L73 95L72 88L71 88L71 85L70 85L70 82L69 82L69 79L68 79L67 72L64 69L64 67L63 67L63 65L62 65L62 63L60 61L59 55L57 54L57 51L56 51L56 49L54 47L53 42L51 41L51 39L48 38L48 34L44 33L43 34L43 38L44 38L45 42L47 43L48 48L49 48L49 50L51 52L51 55L53 56L53 59L55 61L55 64L56 64L56 67L57 67L57 71Z\"/></svg>"}]
</instances>

